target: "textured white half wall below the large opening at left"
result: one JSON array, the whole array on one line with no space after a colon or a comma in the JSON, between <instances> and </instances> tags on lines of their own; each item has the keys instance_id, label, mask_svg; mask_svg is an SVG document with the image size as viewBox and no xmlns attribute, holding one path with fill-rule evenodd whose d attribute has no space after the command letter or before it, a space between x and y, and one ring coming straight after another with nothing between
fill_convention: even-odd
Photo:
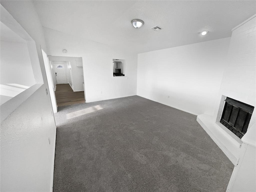
<instances>
[{"instance_id":1,"label":"textured white half wall below the large opening at left","mask_svg":"<svg viewBox=\"0 0 256 192\"><path fill-rule=\"evenodd\" d=\"M1 192L51 191L56 129L48 100L41 86L1 123Z\"/></svg>"}]
</instances>

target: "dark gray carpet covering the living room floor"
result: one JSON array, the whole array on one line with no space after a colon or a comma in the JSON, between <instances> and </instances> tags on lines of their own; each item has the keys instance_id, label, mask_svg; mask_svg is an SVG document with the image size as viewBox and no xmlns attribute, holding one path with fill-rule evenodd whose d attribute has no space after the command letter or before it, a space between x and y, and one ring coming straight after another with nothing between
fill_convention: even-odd
<instances>
[{"instance_id":1,"label":"dark gray carpet covering the living room floor","mask_svg":"<svg viewBox=\"0 0 256 192\"><path fill-rule=\"evenodd\" d=\"M139 96L59 110L54 192L226 191L234 166L192 114Z\"/></svg>"}]
</instances>

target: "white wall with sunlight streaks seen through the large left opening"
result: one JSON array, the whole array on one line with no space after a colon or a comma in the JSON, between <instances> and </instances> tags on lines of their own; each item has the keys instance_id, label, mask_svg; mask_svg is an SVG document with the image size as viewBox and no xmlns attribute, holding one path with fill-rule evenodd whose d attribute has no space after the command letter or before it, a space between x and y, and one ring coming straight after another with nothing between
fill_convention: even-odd
<instances>
[{"instance_id":1,"label":"white wall with sunlight streaks seen through the large left opening","mask_svg":"<svg viewBox=\"0 0 256 192\"><path fill-rule=\"evenodd\" d=\"M0 102L2 105L36 82L27 44L6 41L1 41L0 44Z\"/></svg>"}]
</instances>

